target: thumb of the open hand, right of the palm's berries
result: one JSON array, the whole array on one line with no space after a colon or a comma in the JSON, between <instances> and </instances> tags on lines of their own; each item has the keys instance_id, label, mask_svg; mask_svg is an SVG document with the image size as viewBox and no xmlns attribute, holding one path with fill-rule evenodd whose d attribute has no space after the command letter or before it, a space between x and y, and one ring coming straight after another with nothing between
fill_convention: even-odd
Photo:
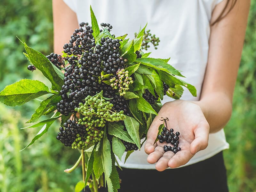
<instances>
[{"instance_id":1,"label":"thumb of the open hand, right of the palm's berries","mask_svg":"<svg viewBox=\"0 0 256 192\"><path fill-rule=\"evenodd\" d=\"M204 150L208 146L209 124L207 122L200 123L195 129L195 139L190 145L190 153L196 154L199 150Z\"/></svg>"}]
</instances>

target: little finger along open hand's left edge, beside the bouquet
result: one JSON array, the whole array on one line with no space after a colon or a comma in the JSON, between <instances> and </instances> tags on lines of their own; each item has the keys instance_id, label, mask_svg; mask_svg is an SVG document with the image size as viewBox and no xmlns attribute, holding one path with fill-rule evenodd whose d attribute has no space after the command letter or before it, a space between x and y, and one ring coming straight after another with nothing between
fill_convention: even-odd
<instances>
[{"instance_id":1,"label":"little finger along open hand's left edge, beside the bouquet","mask_svg":"<svg viewBox=\"0 0 256 192\"><path fill-rule=\"evenodd\" d=\"M145 152L149 155L150 153L154 152L156 145L154 142L157 137L158 127L160 125L160 121L158 120L158 116L155 117L152 124L148 129L147 140L145 143Z\"/></svg>"}]
</instances>

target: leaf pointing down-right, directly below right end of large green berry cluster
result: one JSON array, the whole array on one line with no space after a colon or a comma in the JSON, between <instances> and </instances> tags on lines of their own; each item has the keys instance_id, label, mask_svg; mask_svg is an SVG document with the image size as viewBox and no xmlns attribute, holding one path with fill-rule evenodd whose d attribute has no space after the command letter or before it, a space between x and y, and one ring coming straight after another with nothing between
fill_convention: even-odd
<instances>
[{"instance_id":1,"label":"leaf pointing down-right, directly below right end of large green berry cluster","mask_svg":"<svg viewBox=\"0 0 256 192\"><path fill-rule=\"evenodd\" d=\"M126 142L134 143L127 131L124 131L124 126L117 122L108 123L108 134L114 135L117 138Z\"/></svg>"}]
</instances>

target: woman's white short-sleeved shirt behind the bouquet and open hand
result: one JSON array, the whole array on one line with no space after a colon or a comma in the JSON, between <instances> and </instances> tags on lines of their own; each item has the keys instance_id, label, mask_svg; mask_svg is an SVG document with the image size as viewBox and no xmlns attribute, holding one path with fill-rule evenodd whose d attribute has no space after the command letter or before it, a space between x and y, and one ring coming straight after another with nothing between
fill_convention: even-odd
<instances>
[{"instance_id":1,"label":"woman's white short-sleeved shirt behind the bouquet and open hand","mask_svg":"<svg viewBox=\"0 0 256 192\"><path fill-rule=\"evenodd\" d=\"M197 97L193 97L185 88L183 100L196 101L200 98L204 73L208 59L210 20L216 4L223 0L64 0L76 12L78 22L91 21L90 5L98 23L110 23L111 34L121 36L128 33L134 38L148 22L146 29L160 39L158 49L149 49L150 57L169 58L169 63L189 84L196 87ZM171 101L164 97L163 103ZM223 129L209 135L208 147L196 153L186 164L194 164L214 156L229 147ZM141 150L134 151L126 163L120 166L134 169L155 169L154 164L147 162L148 155ZM185 166L186 166L185 165Z\"/></svg>"}]
</instances>

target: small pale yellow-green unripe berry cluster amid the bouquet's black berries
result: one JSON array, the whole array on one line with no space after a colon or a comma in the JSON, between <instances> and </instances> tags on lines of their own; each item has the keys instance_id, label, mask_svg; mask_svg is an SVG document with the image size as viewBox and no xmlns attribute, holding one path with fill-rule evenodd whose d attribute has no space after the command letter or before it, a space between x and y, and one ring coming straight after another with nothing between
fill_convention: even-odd
<instances>
[{"instance_id":1,"label":"small pale yellow-green unripe berry cluster amid the bouquet's black berries","mask_svg":"<svg viewBox=\"0 0 256 192\"><path fill-rule=\"evenodd\" d=\"M116 72L117 78L113 77L109 81L112 83L110 84L113 89L119 89L118 92L120 96L125 94L125 91L129 90L129 84L133 83L132 77L129 77L129 72L125 71L124 68L118 69Z\"/></svg>"}]
</instances>

